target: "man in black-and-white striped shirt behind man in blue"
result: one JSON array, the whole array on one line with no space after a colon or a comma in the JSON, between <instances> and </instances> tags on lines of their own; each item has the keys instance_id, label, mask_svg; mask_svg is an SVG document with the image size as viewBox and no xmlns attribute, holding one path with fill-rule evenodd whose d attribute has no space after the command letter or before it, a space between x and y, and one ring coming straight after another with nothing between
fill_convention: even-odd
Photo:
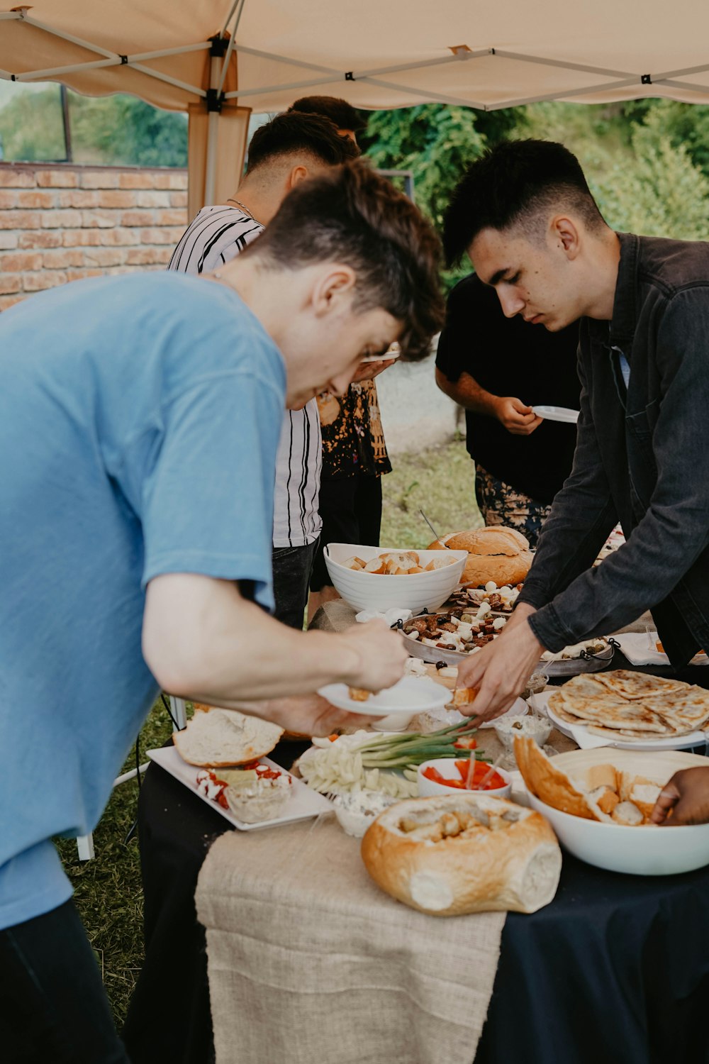
<instances>
[{"instance_id":1,"label":"man in black-and-white striped shirt behind man in blue","mask_svg":"<svg viewBox=\"0 0 709 1064\"><path fill-rule=\"evenodd\" d=\"M174 250L168 269L202 273L235 259L301 181L354 159L358 149L338 136L319 115L288 113L258 129L249 145L238 199L204 206ZM273 591L275 616L303 627L313 559L321 520L318 513L322 443L316 399L285 412L273 500Z\"/></svg>"}]
</instances>

